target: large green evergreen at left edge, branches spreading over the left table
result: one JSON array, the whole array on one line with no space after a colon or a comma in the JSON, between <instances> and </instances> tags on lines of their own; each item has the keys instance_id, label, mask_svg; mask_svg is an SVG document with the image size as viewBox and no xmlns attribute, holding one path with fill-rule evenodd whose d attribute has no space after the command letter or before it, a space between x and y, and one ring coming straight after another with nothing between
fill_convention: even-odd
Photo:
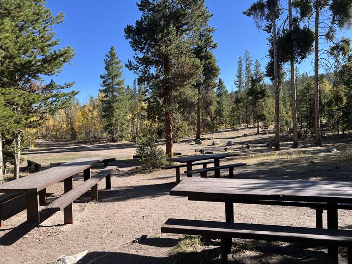
<instances>
[{"instance_id":1,"label":"large green evergreen at left edge, branches spreading over the left table","mask_svg":"<svg viewBox=\"0 0 352 264\"><path fill-rule=\"evenodd\" d=\"M57 48L53 26L63 21L63 14L53 16L44 0L3 0L0 6L0 87L12 100L5 102L16 112L13 130L14 178L19 178L21 136L26 128L38 127L47 113L64 108L76 94L60 90L53 81L44 85L43 75L60 73L62 66L74 56L71 47Z\"/></svg>"}]
</instances>

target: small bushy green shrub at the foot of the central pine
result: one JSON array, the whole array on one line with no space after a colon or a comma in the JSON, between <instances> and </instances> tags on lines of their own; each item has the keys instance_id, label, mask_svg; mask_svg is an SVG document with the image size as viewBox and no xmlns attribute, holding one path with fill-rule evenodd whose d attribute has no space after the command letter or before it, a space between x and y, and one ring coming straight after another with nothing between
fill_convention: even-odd
<instances>
[{"instance_id":1,"label":"small bushy green shrub at the foot of the central pine","mask_svg":"<svg viewBox=\"0 0 352 264\"><path fill-rule=\"evenodd\" d=\"M166 164L166 154L158 147L157 137L156 129L148 125L136 139L136 154L140 156L144 169L157 169Z\"/></svg>"}]
</instances>

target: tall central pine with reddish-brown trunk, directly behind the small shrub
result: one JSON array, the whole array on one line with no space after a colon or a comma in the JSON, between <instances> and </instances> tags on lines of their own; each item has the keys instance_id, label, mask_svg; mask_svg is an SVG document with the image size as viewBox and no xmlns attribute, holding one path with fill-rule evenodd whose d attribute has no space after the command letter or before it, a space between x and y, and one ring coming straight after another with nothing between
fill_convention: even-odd
<instances>
[{"instance_id":1,"label":"tall central pine with reddish-brown trunk, directly behind the small shrub","mask_svg":"<svg viewBox=\"0 0 352 264\"><path fill-rule=\"evenodd\" d=\"M137 6L141 19L125 28L135 52L127 67L146 83L148 108L165 122L166 153L172 157L173 116L180 113L181 102L194 100L190 89L202 74L202 63L193 47L211 15L204 0L141 0Z\"/></svg>"}]
</instances>

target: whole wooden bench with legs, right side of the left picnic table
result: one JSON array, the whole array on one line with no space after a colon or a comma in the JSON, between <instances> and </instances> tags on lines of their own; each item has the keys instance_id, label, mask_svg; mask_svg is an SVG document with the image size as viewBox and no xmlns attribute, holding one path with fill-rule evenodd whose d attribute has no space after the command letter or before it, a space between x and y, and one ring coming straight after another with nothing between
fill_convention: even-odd
<instances>
[{"instance_id":1,"label":"whole wooden bench with legs, right side of the left picnic table","mask_svg":"<svg viewBox=\"0 0 352 264\"><path fill-rule=\"evenodd\" d=\"M50 203L45 209L51 212L61 211L63 209L63 217L65 224L73 224L72 203L78 197L91 189L91 200L98 200L98 183L105 178L106 189L111 189L111 172L116 169L116 166L109 166L100 170L93 177L86 179L82 184L78 185Z\"/></svg>"}]
</instances>

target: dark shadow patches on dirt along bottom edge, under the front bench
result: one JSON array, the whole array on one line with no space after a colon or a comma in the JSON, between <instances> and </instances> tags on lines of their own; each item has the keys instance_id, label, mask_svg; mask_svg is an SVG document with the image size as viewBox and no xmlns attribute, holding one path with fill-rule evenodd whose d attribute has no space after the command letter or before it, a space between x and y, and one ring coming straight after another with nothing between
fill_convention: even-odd
<instances>
[{"instance_id":1,"label":"dark shadow patches on dirt along bottom edge, under the front bench","mask_svg":"<svg viewBox=\"0 0 352 264\"><path fill-rule=\"evenodd\" d=\"M165 240L166 239L166 240ZM165 257L152 257L125 252L90 252L80 261L80 264L96 261L101 264L108 263L221 263L220 241L202 237L202 249L192 252L171 253ZM171 247L176 245L177 239L149 238L142 242L146 246ZM243 246L252 246L250 250L242 250ZM325 250L326 251L326 250ZM310 248L305 245L290 243L272 243L265 241L235 240L232 243L229 263L259 264L259 263L331 263L327 253L321 247ZM346 257L346 251L340 251L340 257ZM341 259L344 260L344 259ZM343 261L341 261L343 262Z\"/></svg>"}]
</instances>

